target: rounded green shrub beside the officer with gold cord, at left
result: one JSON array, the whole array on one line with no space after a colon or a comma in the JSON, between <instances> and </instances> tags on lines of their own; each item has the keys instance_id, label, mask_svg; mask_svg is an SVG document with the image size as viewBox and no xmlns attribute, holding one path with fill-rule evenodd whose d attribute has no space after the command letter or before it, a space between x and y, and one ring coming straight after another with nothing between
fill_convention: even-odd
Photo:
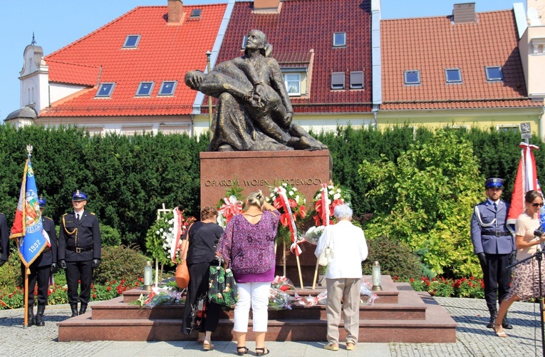
<instances>
[{"instance_id":1,"label":"rounded green shrub beside the officer with gold cord, at left","mask_svg":"<svg viewBox=\"0 0 545 357\"><path fill-rule=\"evenodd\" d=\"M94 281L105 284L106 281L136 281L144 275L147 258L133 247L103 247L102 262L93 272Z\"/></svg>"}]
</instances>

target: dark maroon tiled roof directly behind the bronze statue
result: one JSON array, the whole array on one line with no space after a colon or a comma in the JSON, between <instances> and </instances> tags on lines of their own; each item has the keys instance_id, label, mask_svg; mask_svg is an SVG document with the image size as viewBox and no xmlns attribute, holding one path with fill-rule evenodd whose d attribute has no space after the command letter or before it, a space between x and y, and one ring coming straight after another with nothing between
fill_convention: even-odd
<instances>
[{"instance_id":1,"label":"dark maroon tiled roof directly behind the bronze statue","mask_svg":"<svg viewBox=\"0 0 545 357\"><path fill-rule=\"evenodd\" d=\"M277 61L305 64L314 50L310 98L290 97L296 113L370 111L370 1L284 0L280 14L252 14L252 10L253 2L234 4L218 62L242 56L242 38L259 29L273 46ZM346 48L332 47L334 32L346 32ZM332 72L346 72L348 86L351 71L365 73L365 90L330 89Z\"/></svg>"}]
</instances>

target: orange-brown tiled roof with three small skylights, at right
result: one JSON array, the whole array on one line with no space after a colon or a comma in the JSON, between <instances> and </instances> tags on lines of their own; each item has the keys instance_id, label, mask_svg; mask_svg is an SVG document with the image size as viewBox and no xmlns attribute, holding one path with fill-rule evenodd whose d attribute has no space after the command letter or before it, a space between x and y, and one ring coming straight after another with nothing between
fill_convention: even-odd
<instances>
[{"instance_id":1,"label":"orange-brown tiled roof with three small skylights, at right","mask_svg":"<svg viewBox=\"0 0 545 357\"><path fill-rule=\"evenodd\" d=\"M512 11L477 14L476 23L450 16L380 21L384 110L541 106L526 98ZM502 66L503 82L488 83L485 66ZM447 84L446 68L462 83ZM420 86L405 86L404 71L420 70Z\"/></svg>"}]
</instances>

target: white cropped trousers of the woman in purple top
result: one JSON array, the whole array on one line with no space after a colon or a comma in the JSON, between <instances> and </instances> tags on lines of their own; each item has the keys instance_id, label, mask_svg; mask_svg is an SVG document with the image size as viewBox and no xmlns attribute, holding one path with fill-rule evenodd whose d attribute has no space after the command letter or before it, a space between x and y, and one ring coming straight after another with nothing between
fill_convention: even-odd
<instances>
[{"instance_id":1,"label":"white cropped trousers of the woman in purple top","mask_svg":"<svg viewBox=\"0 0 545 357\"><path fill-rule=\"evenodd\" d=\"M254 332L266 332L269 321L269 289L271 282L242 283L239 287L239 301L234 306L234 331L248 332L250 308L254 315Z\"/></svg>"}]
</instances>

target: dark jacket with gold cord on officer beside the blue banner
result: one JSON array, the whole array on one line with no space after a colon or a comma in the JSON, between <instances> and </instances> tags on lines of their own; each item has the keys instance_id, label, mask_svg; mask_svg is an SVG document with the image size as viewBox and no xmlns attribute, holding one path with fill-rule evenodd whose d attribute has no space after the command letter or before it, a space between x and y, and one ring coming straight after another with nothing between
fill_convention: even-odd
<instances>
[{"instance_id":1,"label":"dark jacket with gold cord on officer beside the blue banner","mask_svg":"<svg viewBox=\"0 0 545 357\"><path fill-rule=\"evenodd\" d=\"M73 212L63 215L58 234L58 260L62 259L66 262L100 259L100 227L95 214L83 211L79 224Z\"/></svg>"}]
</instances>

